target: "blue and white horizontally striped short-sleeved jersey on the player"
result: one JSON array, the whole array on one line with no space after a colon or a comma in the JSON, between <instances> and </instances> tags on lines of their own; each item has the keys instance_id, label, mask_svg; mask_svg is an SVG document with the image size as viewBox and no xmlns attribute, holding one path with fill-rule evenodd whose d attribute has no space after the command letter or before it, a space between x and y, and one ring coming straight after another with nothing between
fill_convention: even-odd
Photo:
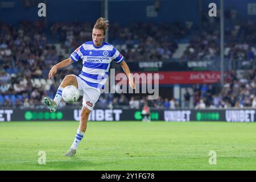
<instances>
[{"instance_id":1,"label":"blue and white horizontally striped short-sleeved jersey on the player","mask_svg":"<svg viewBox=\"0 0 256 182\"><path fill-rule=\"evenodd\" d=\"M93 41L86 42L78 47L71 59L76 62L82 59L82 71L79 77L89 86L104 89L109 72L110 62L121 63L124 57L109 43L103 42L96 47Z\"/></svg>"}]
</instances>

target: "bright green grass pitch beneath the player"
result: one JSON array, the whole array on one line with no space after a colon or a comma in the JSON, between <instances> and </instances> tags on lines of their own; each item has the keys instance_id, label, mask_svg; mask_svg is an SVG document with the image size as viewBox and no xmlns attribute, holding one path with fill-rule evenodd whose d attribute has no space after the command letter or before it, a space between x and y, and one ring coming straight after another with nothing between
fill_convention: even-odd
<instances>
[{"instance_id":1,"label":"bright green grass pitch beneath the player","mask_svg":"<svg viewBox=\"0 0 256 182\"><path fill-rule=\"evenodd\" d=\"M0 122L0 170L255 170L255 123L89 122L64 157L78 122ZM209 151L217 152L210 165ZM38 152L46 152L46 165Z\"/></svg>"}]
</instances>

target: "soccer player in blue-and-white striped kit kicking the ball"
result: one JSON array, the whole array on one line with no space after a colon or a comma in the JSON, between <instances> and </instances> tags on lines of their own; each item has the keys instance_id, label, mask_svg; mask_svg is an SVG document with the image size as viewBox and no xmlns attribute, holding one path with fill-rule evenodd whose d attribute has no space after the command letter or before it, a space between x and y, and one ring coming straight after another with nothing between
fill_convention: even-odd
<instances>
[{"instance_id":1,"label":"soccer player in blue-and-white striped kit kicking the ball","mask_svg":"<svg viewBox=\"0 0 256 182\"><path fill-rule=\"evenodd\" d=\"M130 74L130 69L124 61L124 57L111 44L103 41L105 38L105 31L108 30L108 20L105 18L98 18L92 30L92 40L86 42L78 47L68 59L53 65L49 71L48 78L51 79L56 74L59 68L68 67L68 65L75 63L82 59L82 71L79 76L67 75L64 77L55 98L52 100L49 97L44 97L44 104L55 112L57 105L61 101L61 93L65 86L74 85L79 89L82 95L82 109L80 115L79 128L77 129L75 140L64 156L73 156L76 154L77 147L84 138L88 117L94 105L98 101L101 94L101 89L104 89L106 76L109 71L110 62L119 63L129 78L129 85L135 89L135 82L133 76Z\"/></svg>"}]
</instances>

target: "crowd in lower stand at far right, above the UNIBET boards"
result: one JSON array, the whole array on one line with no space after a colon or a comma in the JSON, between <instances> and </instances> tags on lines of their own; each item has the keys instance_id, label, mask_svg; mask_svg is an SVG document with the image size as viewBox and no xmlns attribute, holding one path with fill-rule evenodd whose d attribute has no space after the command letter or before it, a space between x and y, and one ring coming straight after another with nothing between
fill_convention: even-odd
<instances>
[{"instance_id":1,"label":"crowd in lower stand at far right, above the UNIBET boards","mask_svg":"<svg viewBox=\"0 0 256 182\"><path fill-rule=\"evenodd\" d=\"M256 108L256 69L246 78L239 79L236 72L227 75L226 84L221 89L212 85L196 85L193 88L193 104L196 109L254 107Z\"/></svg>"}]
</instances>

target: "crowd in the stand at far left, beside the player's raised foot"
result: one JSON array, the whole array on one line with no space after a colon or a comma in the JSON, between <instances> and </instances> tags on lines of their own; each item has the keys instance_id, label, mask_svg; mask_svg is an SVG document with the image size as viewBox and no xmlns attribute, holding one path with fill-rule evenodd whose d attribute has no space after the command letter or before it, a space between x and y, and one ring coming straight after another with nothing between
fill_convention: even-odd
<instances>
[{"instance_id":1,"label":"crowd in the stand at far left, beside the player's raised foot","mask_svg":"<svg viewBox=\"0 0 256 182\"><path fill-rule=\"evenodd\" d=\"M0 106L42 107L42 96L53 96L63 75L47 80L49 69L63 57L47 42L42 22L0 22Z\"/></svg>"}]
</instances>

